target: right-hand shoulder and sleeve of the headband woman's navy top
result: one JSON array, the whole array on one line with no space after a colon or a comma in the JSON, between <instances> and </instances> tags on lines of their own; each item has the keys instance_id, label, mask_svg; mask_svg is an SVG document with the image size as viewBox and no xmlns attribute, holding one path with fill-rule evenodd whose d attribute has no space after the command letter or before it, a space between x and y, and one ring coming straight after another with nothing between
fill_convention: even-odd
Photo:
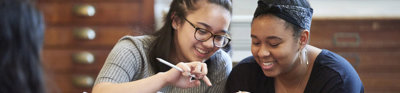
<instances>
[{"instance_id":1,"label":"right-hand shoulder and sleeve of the headband woman's navy top","mask_svg":"<svg viewBox=\"0 0 400 93\"><path fill-rule=\"evenodd\" d=\"M359 93L364 90L353 66L342 56L325 49L314 62L309 85L318 92Z\"/></svg>"}]
</instances>

